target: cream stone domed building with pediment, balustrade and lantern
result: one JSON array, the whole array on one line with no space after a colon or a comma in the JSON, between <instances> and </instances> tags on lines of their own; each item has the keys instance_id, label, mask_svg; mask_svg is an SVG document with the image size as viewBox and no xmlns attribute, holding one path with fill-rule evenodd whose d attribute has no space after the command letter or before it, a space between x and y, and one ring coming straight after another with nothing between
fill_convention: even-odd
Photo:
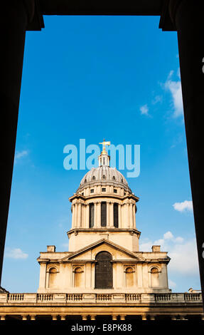
<instances>
[{"instance_id":1,"label":"cream stone domed building with pediment, balustrade and lantern","mask_svg":"<svg viewBox=\"0 0 204 335\"><path fill-rule=\"evenodd\" d=\"M199 292L168 288L167 252L139 251L138 201L104 147L70 197L68 252L41 252L38 293L0 294L1 319L203 318Z\"/></svg>"}]
</instances>

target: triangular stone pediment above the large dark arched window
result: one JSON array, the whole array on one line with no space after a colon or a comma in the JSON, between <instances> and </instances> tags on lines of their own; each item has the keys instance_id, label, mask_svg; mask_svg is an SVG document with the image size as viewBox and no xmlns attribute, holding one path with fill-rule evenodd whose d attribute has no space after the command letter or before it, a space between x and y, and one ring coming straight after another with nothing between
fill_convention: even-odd
<instances>
[{"instance_id":1,"label":"triangular stone pediment above the large dark arched window","mask_svg":"<svg viewBox=\"0 0 204 335\"><path fill-rule=\"evenodd\" d=\"M82 260L82 259L95 259L95 255L100 251L108 251L113 255L113 259L127 259L129 261L139 261L144 262L145 258L142 257L139 252L131 252L124 247L121 247L119 244L115 244L114 242L109 241L108 239L100 239L99 241L88 245L82 249L69 254L68 256L64 257L61 261L71 261L71 260Z\"/></svg>"}]
</instances>

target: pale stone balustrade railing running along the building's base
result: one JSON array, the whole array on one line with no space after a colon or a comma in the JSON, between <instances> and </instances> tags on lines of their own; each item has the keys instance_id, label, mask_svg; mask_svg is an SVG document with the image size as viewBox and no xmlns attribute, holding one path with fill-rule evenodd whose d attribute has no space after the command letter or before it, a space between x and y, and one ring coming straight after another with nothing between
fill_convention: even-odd
<instances>
[{"instance_id":1,"label":"pale stone balustrade railing running along the building's base","mask_svg":"<svg viewBox=\"0 0 204 335\"><path fill-rule=\"evenodd\" d=\"M0 304L40 304L40 303L202 303L201 293L9 293L0 294Z\"/></svg>"}]
</instances>

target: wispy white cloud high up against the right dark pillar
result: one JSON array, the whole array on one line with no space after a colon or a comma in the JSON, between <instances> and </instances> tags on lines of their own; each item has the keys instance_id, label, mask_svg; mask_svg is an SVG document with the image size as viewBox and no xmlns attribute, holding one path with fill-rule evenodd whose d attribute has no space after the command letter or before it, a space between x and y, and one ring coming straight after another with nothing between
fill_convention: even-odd
<instances>
[{"instance_id":1,"label":"wispy white cloud high up against the right dark pillar","mask_svg":"<svg viewBox=\"0 0 204 335\"><path fill-rule=\"evenodd\" d=\"M178 72L179 73L179 72ZM164 84L164 88L167 91L170 91L171 98L173 102L173 116L178 118L178 116L183 115L183 99L181 92L181 81L173 81L171 77L173 76L173 71L171 71L168 75L166 83Z\"/></svg>"}]
</instances>

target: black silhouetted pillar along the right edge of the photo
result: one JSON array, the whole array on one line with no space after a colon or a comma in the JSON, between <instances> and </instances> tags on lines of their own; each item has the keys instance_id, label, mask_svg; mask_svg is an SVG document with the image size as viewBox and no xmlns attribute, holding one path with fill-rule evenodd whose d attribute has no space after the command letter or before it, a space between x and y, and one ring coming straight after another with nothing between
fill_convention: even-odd
<instances>
[{"instance_id":1,"label":"black silhouetted pillar along the right edge of the photo","mask_svg":"<svg viewBox=\"0 0 204 335\"><path fill-rule=\"evenodd\" d=\"M171 21L173 21L178 33L190 185L198 247L200 284L204 301L204 163L203 155L201 154L204 140L203 122L200 122L200 116L204 108L203 12L203 0L171 0L169 3Z\"/></svg>"}]
</instances>

